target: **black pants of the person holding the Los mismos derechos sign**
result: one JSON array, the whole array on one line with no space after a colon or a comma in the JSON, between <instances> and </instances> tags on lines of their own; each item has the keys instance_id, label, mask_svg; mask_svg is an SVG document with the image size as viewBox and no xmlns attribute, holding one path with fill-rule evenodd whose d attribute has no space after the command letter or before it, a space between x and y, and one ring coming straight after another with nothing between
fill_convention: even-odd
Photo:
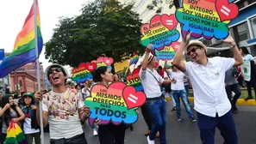
<instances>
[{"instance_id":1,"label":"black pants of the person holding the Los mismos derechos sign","mask_svg":"<svg viewBox=\"0 0 256 144\"><path fill-rule=\"evenodd\" d=\"M98 127L98 139L100 144L124 144L125 126L100 125Z\"/></svg>"}]
</instances>

